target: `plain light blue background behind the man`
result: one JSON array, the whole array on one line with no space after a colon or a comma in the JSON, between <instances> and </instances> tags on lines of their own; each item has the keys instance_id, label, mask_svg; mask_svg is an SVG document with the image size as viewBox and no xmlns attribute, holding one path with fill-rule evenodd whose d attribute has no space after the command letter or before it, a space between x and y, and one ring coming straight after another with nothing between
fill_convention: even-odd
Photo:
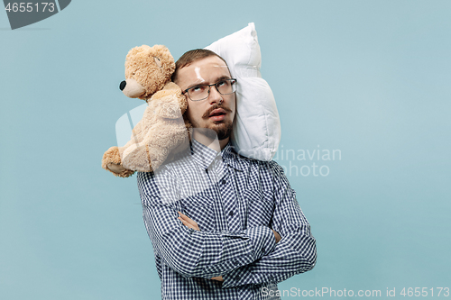
<instances>
[{"instance_id":1,"label":"plain light blue background behind the man","mask_svg":"<svg viewBox=\"0 0 451 300\"><path fill-rule=\"evenodd\" d=\"M0 12L0 298L159 298L136 178L100 167L116 120L142 105L118 89L125 55L159 43L177 59L249 22L283 149L342 154L277 159L330 170L287 169L318 264L280 289L451 287L450 12L449 1L75 0L15 31Z\"/></svg>"}]
</instances>

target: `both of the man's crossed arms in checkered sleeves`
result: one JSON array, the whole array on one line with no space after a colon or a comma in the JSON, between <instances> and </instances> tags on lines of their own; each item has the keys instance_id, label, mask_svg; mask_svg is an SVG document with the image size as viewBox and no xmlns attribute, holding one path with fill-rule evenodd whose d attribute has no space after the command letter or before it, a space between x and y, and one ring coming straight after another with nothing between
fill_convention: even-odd
<instances>
[{"instance_id":1,"label":"both of the man's crossed arms in checkered sleeves","mask_svg":"<svg viewBox=\"0 0 451 300\"><path fill-rule=\"evenodd\" d=\"M313 268L317 250L308 221L275 162L272 173L272 229L261 225L237 232L199 232L194 220L177 219L182 211L179 202L161 199L161 192L170 199L178 197L172 195L177 182L169 179L162 186L151 186L152 173L138 173L143 219L156 254L183 277L224 279L223 288L277 283Z\"/></svg>"}]
</instances>

